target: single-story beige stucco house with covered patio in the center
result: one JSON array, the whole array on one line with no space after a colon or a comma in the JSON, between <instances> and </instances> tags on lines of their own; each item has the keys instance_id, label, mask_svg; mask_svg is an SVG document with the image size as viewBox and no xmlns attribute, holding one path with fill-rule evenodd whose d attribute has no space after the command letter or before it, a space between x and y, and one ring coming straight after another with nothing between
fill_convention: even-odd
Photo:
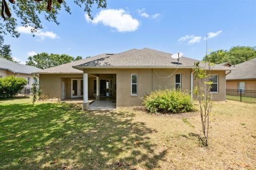
<instances>
[{"instance_id":1,"label":"single-story beige stucco house with covered patio in the center","mask_svg":"<svg viewBox=\"0 0 256 170\"><path fill-rule=\"evenodd\" d=\"M42 93L49 98L66 100L83 97L83 108L89 100L114 99L116 107L140 106L141 97L159 88L191 90L194 60L177 59L172 54L144 48L118 54L100 54L83 60L51 67L40 74ZM225 100L226 73L229 67L216 65L213 80L213 100ZM191 94L193 95L193 94Z\"/></svg>"}]
</instances>

